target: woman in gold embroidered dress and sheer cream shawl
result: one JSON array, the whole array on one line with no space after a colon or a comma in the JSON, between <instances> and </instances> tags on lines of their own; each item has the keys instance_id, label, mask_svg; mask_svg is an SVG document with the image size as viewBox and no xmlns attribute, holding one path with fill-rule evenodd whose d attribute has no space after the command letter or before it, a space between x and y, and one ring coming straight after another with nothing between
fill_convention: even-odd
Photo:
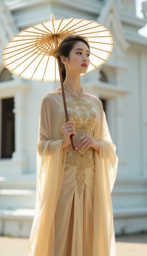
<instances>
[{"instance_id":1,"label":"woman in gold embroidered dress and sheer cream shawl","mask_svg":"<svg viewBox=\"0 0 147 256\"><path fill-rule=\"evenodd\" d=\"M58 56L70 121L61 87L43 97L29 256L114 256L111 191L118 157L101 101L81 87L90 63L86 38L66 37Z\"/></svg>"}]
</instances>

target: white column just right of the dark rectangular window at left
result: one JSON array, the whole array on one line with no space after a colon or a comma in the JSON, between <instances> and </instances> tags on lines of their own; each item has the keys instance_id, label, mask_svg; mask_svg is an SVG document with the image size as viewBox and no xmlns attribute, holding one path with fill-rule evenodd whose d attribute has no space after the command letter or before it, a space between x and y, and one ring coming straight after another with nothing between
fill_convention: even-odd
<instances>
[{"instance_id":1,"label":"white column just right of the dark rectangular window at left","mask_svg":"<svg viewBox=\"0 0 147 256\"><path fill-rule=\"evenodd\" d=\"M17 162L17 173L28 172L27 156L27 122L26 122L26 94L23 92L14 96L15 113L15 152L12 161Z\"/></svg>"}]
</instances>

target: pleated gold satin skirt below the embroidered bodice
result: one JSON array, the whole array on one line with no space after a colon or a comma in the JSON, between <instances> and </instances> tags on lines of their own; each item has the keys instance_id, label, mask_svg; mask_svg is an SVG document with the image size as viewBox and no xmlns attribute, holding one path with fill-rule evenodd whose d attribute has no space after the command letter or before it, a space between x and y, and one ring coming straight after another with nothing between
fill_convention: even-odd
<instances>
[{"instance_id":1,"label":"pleated gold satin skirt below the embroidered bodice","mask_svg":"<svg viewBox=\"0 0 147 256\"><path fill-rule=\"evenodd\" d=\"M77 185L61 191L54 221L54 256L92 256L94 190ZM49 255L50 256L50 255Z\"/></svg>"}]
</instances>

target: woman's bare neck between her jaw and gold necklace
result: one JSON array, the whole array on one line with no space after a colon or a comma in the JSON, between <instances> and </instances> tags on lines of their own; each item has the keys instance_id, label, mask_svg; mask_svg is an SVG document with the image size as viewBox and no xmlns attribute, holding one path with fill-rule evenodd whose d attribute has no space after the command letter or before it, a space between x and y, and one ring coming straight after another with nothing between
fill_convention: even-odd
<instances>
[{"instance_id":1,"label":"woman's bare neck between her jaw and gold necklace","mask_svg":"<svg viewBox=\"0 0 147 256\"><path fill-rule=\"evenodd\" d=\"M66 74L64 86L73 93L79 93L81 91L81 76L75 76L75 74Z\"/></svg>"}]
</instances>

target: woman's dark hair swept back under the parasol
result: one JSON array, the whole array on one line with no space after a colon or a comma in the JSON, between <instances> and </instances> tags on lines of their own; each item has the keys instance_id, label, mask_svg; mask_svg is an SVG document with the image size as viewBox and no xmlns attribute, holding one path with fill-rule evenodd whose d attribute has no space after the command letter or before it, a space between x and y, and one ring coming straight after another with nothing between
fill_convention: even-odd
<instances>
[{"instance_id":1,"label":"woman's dark hair swept back under the parasol","mask_svg":"<svg viewBox=\"0 0 147 256\"><path fill-rule=\"evenodd\" d=\"M62 55L64 57L68 58L70 51L73 49L74 45L78 41L81 41L81 42L85 43L87 45L89 51L90 51L90 46L89 46L89 43L87 42L86 37L71 34L71 35L65 37L65 39L60 43L60 46L59 46L59 49L58 49L59 59ZM62 71L62 79L63 79L63 82L64 82L65 78L66 78L66 70L65 70L65 65L61 62L61 59L60 59L60 66L61 66L61 71Z\"/></svg>"}]
</instances>

